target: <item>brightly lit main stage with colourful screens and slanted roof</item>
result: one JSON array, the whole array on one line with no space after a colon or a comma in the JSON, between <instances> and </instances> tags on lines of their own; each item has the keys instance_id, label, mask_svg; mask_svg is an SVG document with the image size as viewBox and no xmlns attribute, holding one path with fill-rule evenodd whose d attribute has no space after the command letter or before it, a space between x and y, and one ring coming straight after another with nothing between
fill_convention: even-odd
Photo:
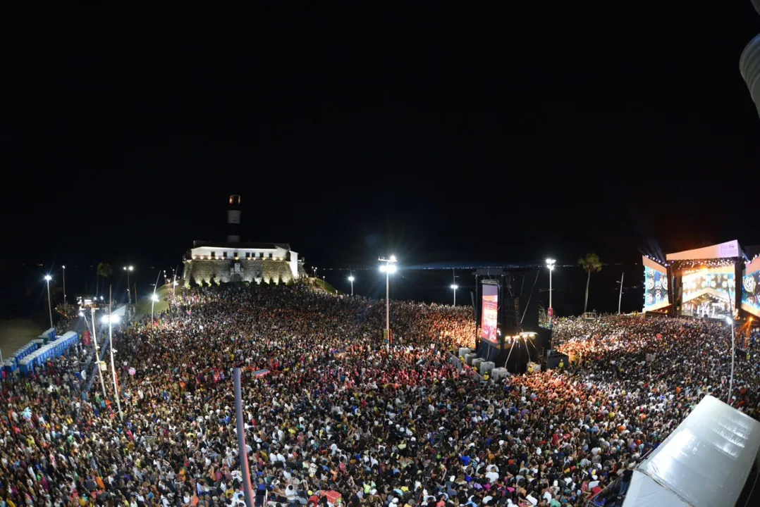
<instances>
[{"instance_id":1,"label":"brightly lit main stage with colourful screens and slanted roof","mask_svg":"<svg viewBox=\"0 0 760 507\"><path fill-rule=\"evenodd\" d=\"M668 253L665 260L644 256L644 312L721 320L738 317L739 308L746 310L756 301L736 291L745 260L736 240ZM758 268L760 263L754 269Z\"/></svg>"}]
</instances>

